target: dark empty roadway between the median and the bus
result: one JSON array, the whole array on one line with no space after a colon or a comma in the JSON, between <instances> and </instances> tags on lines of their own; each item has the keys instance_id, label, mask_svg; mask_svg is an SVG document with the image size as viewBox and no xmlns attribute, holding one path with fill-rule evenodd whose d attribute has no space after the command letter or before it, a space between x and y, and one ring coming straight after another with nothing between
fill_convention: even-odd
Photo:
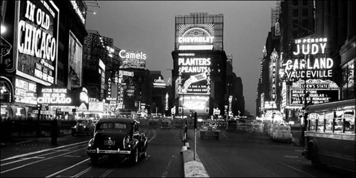
<instances>
[{"instance_id":1,"label":"dark empty roadway between the median and the bus","mask_svg":"<svg viewBox=\"0 0 356 178\"><path fill-rule=\"evenodd\" d=\"M189 143L194 150L193 130ZM197 154L211 177L341 177L338 170L311 166L303 147L276 143L262 134L220 131L219 140L200 139ZM349 177L350 175L344 175Z\"/></svg>"}]
</instances>

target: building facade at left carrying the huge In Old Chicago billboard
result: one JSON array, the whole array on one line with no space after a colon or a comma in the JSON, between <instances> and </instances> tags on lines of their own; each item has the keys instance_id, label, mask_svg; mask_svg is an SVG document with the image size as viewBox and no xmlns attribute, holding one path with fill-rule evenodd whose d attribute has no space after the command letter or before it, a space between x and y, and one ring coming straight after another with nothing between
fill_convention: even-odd
<instances>
[{"instance_id":1,"label":"building facade at left carrying the huge In Old Chicago billboard","mask_svg":"<svg viewBox=\"0 0 356 178\"><path fill-rule=\"evenodd\" d=\"M41 88L82 86L86 9L83 1L2 1L2 118L48 118L55 112L37 107ZM47 22L35 20L39 10Z\"/></svg>"}]
</instances>

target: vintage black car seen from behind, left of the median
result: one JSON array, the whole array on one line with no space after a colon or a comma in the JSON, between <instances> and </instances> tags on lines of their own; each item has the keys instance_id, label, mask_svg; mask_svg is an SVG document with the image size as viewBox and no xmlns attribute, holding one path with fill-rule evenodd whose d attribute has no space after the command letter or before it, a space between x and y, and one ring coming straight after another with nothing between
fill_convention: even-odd
<instances>
[{"instance_id":1,"label":"vintage black car seen from behind, left of the median","mask_svg":"<svg viewBox=\"0 0 356 178\"><path fill-rule=\"evenodd\" d=\"M86 153L92 164L104 155L126 157L132 163L146 157L147 137L139 133L138 122L126 118L101 119L95 127L94 138L89 141Z\"/></svg>"}]
</instances>

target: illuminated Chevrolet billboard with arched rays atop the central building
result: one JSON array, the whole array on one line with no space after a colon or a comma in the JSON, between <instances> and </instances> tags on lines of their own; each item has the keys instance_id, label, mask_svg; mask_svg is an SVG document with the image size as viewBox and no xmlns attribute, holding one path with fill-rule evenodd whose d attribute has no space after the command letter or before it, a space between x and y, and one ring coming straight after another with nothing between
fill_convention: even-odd
<instances>
[{"instance_id":1,"label":"illuminated Chevrolet billboard with arched rays atop the central building","mask_svg":"<svg viewBox=\"0 0 356 178\"><path fill-rule=\"evenodd\" d=\"M215 25L180 24L176 39L178 50L213 50Z\"/></svg>"}]
</instances>

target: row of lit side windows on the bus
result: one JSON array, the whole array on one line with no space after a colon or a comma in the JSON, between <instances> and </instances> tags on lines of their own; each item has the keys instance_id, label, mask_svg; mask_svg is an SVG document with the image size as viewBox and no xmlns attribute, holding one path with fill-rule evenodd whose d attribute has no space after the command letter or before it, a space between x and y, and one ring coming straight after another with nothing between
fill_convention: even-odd
<instances>
[{"instance_id":1,"label":"row of lit side windows on the bus","mask_svg":"<svg viewBox=\"0 0 356 178\"><path fill-rule=\"evenodd\" d=\"M355 130L355 110L310 113L308 130L317 132L352 133Z\"/></svg>"}]
</instances>

